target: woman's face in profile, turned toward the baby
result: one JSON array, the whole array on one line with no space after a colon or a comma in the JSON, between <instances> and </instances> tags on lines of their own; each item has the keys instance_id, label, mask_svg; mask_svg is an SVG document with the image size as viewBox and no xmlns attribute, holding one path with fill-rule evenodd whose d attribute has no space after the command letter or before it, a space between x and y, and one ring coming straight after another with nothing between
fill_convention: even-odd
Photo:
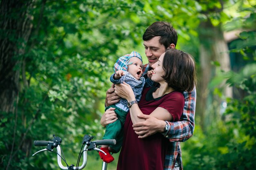
<instances>
[{"instance_id":1,"label":"woman's face in profile, turned toward the baby","mask_svg":"<svg viewBox=\"0 0 256 170\"><path fill-rule=\"evenodd\" d=\"M165 80L162 77L165 74L164 69L162 67L163 66L162 62L164 60L164 54L165 53L163 53L159 57L158 61L152 65L152 68L154 69L154 74L152 74L151 80L153 80L154 82L158 82L158 83L165 82Z\"/></svg>"}]
</instances>

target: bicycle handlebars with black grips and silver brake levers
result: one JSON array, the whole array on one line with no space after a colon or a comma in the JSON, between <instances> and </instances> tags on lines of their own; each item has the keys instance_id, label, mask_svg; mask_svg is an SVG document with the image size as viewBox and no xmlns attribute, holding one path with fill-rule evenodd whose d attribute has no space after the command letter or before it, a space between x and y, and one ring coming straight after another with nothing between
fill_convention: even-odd
<instances>
[{"instance_id":1,"label":"bicycle handlebars with black grips and silver brake levers","mask_svg":"<svg viewBox=\"0 0 256 170\"><path fill-rule=\"evenodd\" d=\"M103 139L103 140L91 141L93 138L94 138L94 136L91 137L89 135L85 135L83 137L82 144L85 146L82 145L82 147L81 147L81 150L79 152L79 156L78 156L78 159L76 162L76 166L74 164L71 164L70 166L67 164L64 153L60 146L62 139L60 137L56 137L55 135L53 135L53 139L51 139L49 141L34 141L34 146L47 146L47 147L45 149L37 151L32 156L34 156L40 152L44 152L44 151L56 152L53 149L57 148L56 153L57 153L58 166L62 170L82 170L83 168L85 168L86 163L87 163L87 151L96 150L99 152L103 152L106 155L106 153L103 150L97 148L97 146L99 146L99 145L115 145L116 144L115 139ZM83 149L83 151L82 151L82 149ZM61 153L62 153L63 157L61 156ZM83 154L83 163L81 166L79 166L79 162L80 162L82 154ZM63 166L61 159L63 159L63 161L66 163L67 166ZM102 170L107 170L107 166L108 166L108 163L103 161Z\"/></svg>"}]
</instances>

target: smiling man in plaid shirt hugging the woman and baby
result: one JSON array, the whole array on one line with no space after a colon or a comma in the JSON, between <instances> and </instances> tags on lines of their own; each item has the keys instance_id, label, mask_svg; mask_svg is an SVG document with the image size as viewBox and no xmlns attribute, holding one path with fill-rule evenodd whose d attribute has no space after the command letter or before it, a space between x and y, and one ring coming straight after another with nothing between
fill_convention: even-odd
<instances>
[{"instance_id":1,"label":"smiling man in plaid shirt hugging the woman and baby","mask_svg":"<svg viewBox=\"0 0 256 170\"><path fill-rule=\"evenodd\" d=\"M177 33L168 22L154 22L146 29L143 40L146 57L148 58L148 64L145 64L143 67L144 77L146 77L147 71L152 69L151 66L157 62L160 55L166 49L175 48ZM195 127L195 88L191 92L183 92L183 95L185 105L180 121L168 122L158 120L150 115L140 115L138 117L145 119L145 121L133 125L133 130L139 135L139 138L145 138L160 132L170 140L164 162L165 170L182 170L180 142L189 139L193 135ZM120 97L115 94L114 86L108 89L106 93L106 106L115 104L119 99ZM106 126L116 120L117 116L114 108L110 108L101 117L101 124Z\"/></svg>"}]
</instances>

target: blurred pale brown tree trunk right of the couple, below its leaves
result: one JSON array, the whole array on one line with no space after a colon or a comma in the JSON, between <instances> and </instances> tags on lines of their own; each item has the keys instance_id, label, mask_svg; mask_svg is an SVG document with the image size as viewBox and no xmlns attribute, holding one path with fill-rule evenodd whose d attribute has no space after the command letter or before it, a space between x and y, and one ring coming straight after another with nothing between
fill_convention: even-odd
<instances>
[{"instance_id":1,"label":"blurred pale brown tree trunk right of the couple, below its leaves","mask_svg":"<svg viewBox=\"0 0 256 170\"><path fill-rule=\"evenodd\" d=\"M204 130L207 124L210 124L213 119L220 113L221 100L218 98L217 103L213 103L213 91L208 88L211 79L216 75L216 72L229 71L230 59L227 43L223 38L223 33L220 26L214 27L209 20L201 22L199 29L200 38L200 79L198 81L198 97L196 114L199 119L200 126ZM212 62L220 63L216 67ZM224 82L223 84L224 85ZM232 97L231 88L223 87L223 95ZM213 112L210 113L210 110Z\"/></svg>"}]
</instances>

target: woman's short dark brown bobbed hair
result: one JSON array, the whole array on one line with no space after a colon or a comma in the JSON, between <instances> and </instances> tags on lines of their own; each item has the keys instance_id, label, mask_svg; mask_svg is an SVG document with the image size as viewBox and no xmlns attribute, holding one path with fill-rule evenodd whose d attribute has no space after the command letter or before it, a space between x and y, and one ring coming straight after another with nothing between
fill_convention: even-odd
<instances>
[{"instance_id":1,"label":"woman's short dark brown bobbed hair","mask_svg":"<svg viewBox=\"0 0 256 170\"><path fill-rule=\"evenodd\" d=\"M192 91L196 85L195 60L183 51L168 49L164 54L162 76L175 91Z\"/></svg>"}]
</instances>

